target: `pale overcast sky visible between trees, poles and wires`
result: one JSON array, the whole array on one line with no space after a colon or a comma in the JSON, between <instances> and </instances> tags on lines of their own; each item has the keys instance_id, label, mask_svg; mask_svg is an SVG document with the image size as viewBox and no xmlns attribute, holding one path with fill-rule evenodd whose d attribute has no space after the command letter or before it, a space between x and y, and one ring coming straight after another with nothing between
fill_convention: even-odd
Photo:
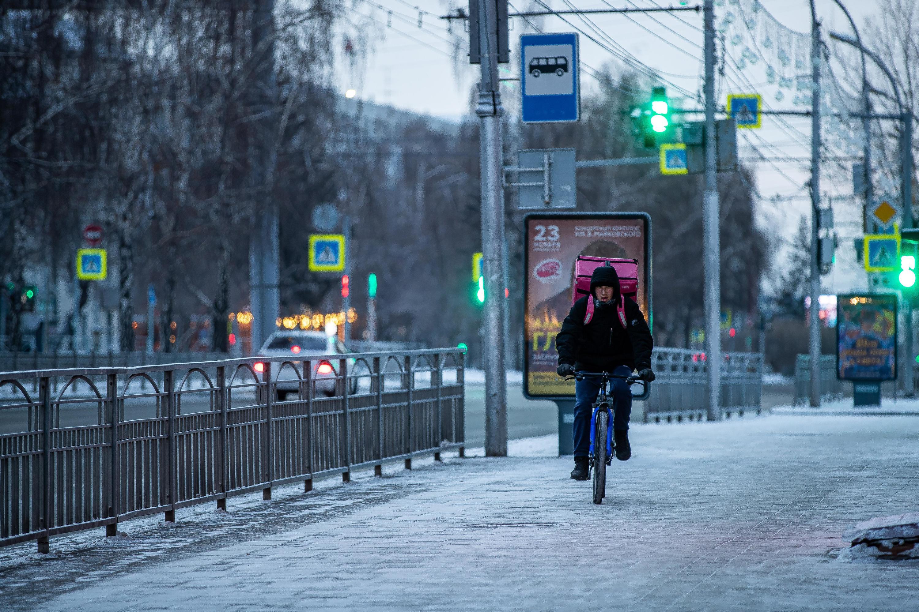
<instances>
[{"instance_id":1,"label":"pale overcast sky visible between trees, poles and wires","mask_svg":"<svg viewBox=\"0 0 919 612\"><path fill-rule=\"evenodd\" d=\"M545 1L557 10L567 7L564 0ZM578 8L652 6L652 0L634 0L634 4L630 0L610 0L609 4L602 0L570 1ZM664 5L664 2L659 4ZM675 4L678 6L678 3ZM690 1L689 4L694 3ZM716 2L717 4L719 3ZM724 0L720 5L716 6L718 17L723 17L732 10L731 0ZM454 3L452 6L466 6L466 3ZM515 9L526 11L539 8L536 2L527 4L523 0L511 0L511 6L511 12L515 12ZM762 6L788 28L804 33L810 30L811 9L807 2L762 0ZM849 2L847 7L862 28L865 19L878 10L878 2L861 0ZM449 8L448 3L441 0L354 2L352 18L359 25L361 34L369 39L373 51L366 62L357 62L355 65L342 62L337 73L342 92L353 88L357 91L359 99L448 119L458 120L464 116L471 116L470 91L478 81L478 66L471 66L466 62L465 49L460 51L459 62L454 61L454 50L450 41L455 37L448 32L447 22L437 18L448 13ZM423 11L421 27L418 25L419 10ZM851 32L845 15L833 0L818 0L817 11L826 29ZM559 17L542 17L533 21L543 31L574 31L573 26L576 26L585 33L600 38L596 32L591 32L589 25L575 17L568 18L572 25ZM661 71L664 78L673 85L692 93L701 89L701 13L630 14L629 17L593 15L590 19L591 25L607 34L642 63ZM515 49L519 34L533 30L520 18L512 19L512 22L511 42L512 49ZM462 32L460 22L455 22L454 32L461 35L464 45L468 44L468 35ZM613 62L614 65L622 66L609 51L589 40L584 34L580 37L580 43L583 64L601 68L604 64ZM737 55L737 51L729 48L729 54ZM507 75L519 75L516 61L516 55L512 55L511 63L503 66L509 71ZM762 68L762 64L758 67ZM587 68L582 70L581 84L584 92L596 87L596 81L589 76L589 72ZM749 85L756 87L762 84L767 108L807 108L791 104L791 96L786 96L781 102L777 101L770 95L772 89L766 87L762 71L759 74L750 71L749 74L743 75L741 72L729 63L729 70L718 84L720 104L725 102L724 98L728 93L749 93ZM516 84L502 86L505 98L519 96ZM674 96L675 93L671 92L674 92L674 87L668 87L668 93ZM686 106L694 106L693 101L690 100ZM762 129L755 130L755 133L750 133L754 130L744 131L746 139L738 139L743 163L754 168L760 194L766 198L776 195L797 198L782 199L778 202L767 201L762 203L758 210L762 223L767 223L785 238L790 239L797 230L800 216L809 211L804 184L811 172L810 118L787 118L781 122L766 117ZM747 139L751 144L747 143ZM766 155L769 161L763 161L760 158L761 154ZM841 166L837 165L837 168L834 181L828 183L824 179L824 189L835 196L851 194L851 185L847 180L840 178ZM864 274L858 273L851 245L851 238L861 233L860 204L851 200L834 200L834 210L840 224L840 243L845 251L837 253L838 265L825 282L830 286L829 289L838 291L863 289Z\"/></svg>"}]
</instances>

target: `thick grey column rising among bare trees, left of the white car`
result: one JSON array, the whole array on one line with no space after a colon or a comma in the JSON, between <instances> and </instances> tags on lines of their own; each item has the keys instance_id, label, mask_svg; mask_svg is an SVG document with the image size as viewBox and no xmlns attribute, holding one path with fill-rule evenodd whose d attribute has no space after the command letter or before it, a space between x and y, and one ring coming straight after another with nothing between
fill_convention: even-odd
<instances>
[{"instance_id":1,"label":"thick grey column rising among bare trees, left of the white car","mask_svg":"<svg viewBox=\"0 0 919 612\"><path fill-rule=\"evenodd\" d=\"M249 244L249 288L251 291L252 350L257 351L268 334L275 331L280 314L278 278L278 204L268 190L271 142L277 130L271 106L276 99L274 0L256 2L253 9L252 52L258 66L252 87L253 115L262 119L251 125L255 130L251 151L252 186L257 198L255 226Z\"/></svg>"}]
</instances>

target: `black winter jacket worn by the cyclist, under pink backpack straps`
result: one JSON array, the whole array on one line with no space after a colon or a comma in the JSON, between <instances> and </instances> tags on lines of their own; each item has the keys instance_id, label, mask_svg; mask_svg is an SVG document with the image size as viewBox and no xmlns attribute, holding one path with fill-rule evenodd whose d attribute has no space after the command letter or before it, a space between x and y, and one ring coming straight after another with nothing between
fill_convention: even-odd
<instances>
[{"instance_id":1,"label":"black winter jacket worn by the cyclist, under pink backpack straps","mask_svg":"<svg viewBox=\"0 0 919 612\"><path fill-rule=\"evenodd\" d=\"M613 303L595 308L594 318L584 325L587 300L592 299L590 295L575 301L565 317L562 331L555 338L559 363L589 372L608 372L617 366L639 370L651 368L654 341L638 304L622 298L625 300L626 329L619 323Z\"/></svg>"}]
</instances>

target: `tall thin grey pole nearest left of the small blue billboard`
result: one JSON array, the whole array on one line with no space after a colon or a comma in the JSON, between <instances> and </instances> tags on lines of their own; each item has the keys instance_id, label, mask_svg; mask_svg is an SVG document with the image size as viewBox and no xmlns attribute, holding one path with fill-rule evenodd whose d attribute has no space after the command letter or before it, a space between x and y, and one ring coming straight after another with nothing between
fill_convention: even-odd
<instances>
[{"instance_id":1,"label":"tall thin grey pole nearest left of the small blue billboard","mask_svg":"<svg viewBox=\"0 0 919 612\"><path fill-rule=\"evenodd\" d=\"M820 23L811 0L811 406L820 407Z\"/></svg>"}]
</instances>

